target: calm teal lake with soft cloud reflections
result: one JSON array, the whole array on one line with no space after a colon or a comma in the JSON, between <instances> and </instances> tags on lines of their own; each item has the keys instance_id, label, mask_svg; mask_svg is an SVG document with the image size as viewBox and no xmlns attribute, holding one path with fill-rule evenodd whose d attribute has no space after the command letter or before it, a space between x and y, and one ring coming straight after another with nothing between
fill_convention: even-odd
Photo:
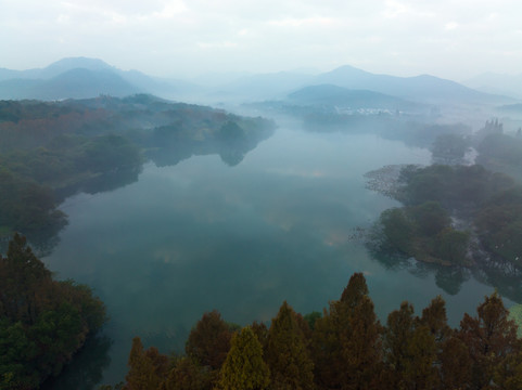
<instances>
[{"instance_id":1,"label":"calm teal lake with soft cloud reflections","mask_svg":"<svg viewBox=\"0 0 522 390\"><path fill-rule=\"evenodd\" d=\"M283 300L303 314L321 311L354 272L367 276L381 321L403 300L419 314L442 295L457 326L493 287L424 264L393 266L351 239L398 206L367 190L364 173L430 160L398 141L288 122L237 166L217 155L148 164L136 183L68 198L69 224L43 261L56 277L91 286L111 320L107 338L87 346L53 389L123 380L135 336L182 353L190 328L214 309L241 325L270 321Z\"/></svg>"}]
</instances>

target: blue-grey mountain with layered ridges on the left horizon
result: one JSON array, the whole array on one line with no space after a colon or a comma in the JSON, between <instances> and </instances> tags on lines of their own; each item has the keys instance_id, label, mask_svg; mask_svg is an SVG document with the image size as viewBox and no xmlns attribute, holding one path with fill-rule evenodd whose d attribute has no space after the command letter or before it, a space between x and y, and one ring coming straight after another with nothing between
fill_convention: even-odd
<instances>
[{"instance_id":1,"label":"blue-grey mountain with layered ridges on the left horizon","mask_svg":"<svg viewBox=\"0 0 522 390\"><path fill-rule=\"evenodd\" d=\"M122 70L98 58L63 58L44 68L28 70L0 68L0 99L86 99L147 92L182 100L196 90L189 82Z\"/></svg>"}]
</instances>

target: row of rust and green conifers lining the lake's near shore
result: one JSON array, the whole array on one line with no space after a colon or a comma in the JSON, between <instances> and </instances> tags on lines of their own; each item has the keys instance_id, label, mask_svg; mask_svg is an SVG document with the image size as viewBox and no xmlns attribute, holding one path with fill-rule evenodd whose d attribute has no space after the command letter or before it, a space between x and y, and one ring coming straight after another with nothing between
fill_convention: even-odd
<instances>
[{"instance_id":1,"label":"row of rust and green conifers lining the lake's near shore","mask_svg":"<svg viewBox=\"0 0 522 390\"><path fill-rule=\"evenodd\" d=\"M303 316L284 302L270 326L240 329L216 311L205 313L183 356L144 350L136 337L128 364L126 382L115 388L514 390L522 381L522 340L496 292L456 329L441 297L420 316L403 302L381 325L356 273L322 315Z\"/></svg>"}]
</instances>

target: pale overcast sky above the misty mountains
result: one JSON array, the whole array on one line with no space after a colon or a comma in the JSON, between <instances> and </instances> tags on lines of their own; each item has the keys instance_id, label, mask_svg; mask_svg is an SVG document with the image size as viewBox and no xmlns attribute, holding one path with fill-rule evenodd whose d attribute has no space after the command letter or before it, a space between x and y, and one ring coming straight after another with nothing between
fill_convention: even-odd
<instances>
[{"instance_id":1,"label":"pale overcast sky above the misty mountains","mask_svg":"<svg viewBox=\"0 0 522 390\"><path fill-rule=\"evenodd\" d=\"M522 73L520 0L0 0L0 37L11 69L87 56L165 77Z\"/></svg>"}]
</instances>

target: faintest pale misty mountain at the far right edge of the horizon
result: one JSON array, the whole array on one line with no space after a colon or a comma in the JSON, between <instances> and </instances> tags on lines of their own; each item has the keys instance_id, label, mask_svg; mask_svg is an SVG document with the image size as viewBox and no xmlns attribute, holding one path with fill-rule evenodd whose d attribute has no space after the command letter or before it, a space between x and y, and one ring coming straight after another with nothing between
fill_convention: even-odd
<instances>
[{"instance_id":1,"label":"faintest pale misty mountain at the far right edge of the horizon","mask_svg":"<svg viewBox=\"0 0 522 390\"><path fill-rule=\"evenodd\" d=\"M522 74L501 75L485 73L462 82L464 86L487 93L499 93L522 99Z\"/></svg>"}]
</instances>

